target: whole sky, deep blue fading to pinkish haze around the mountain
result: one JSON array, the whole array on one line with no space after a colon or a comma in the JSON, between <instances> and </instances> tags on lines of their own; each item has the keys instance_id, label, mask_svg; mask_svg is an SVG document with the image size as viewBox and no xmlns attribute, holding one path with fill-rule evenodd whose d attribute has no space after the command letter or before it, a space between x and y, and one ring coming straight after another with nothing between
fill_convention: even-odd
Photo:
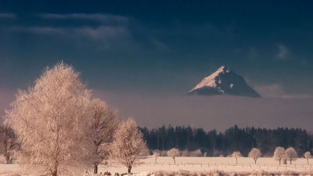
<instances>
[{"instance_id":1,"label":"whole sky, deep blue fading to pinkish haze around the mountain","mask_svg":"<svg viewBox=\"0 0 313 176\"><path fill-rule=\"evenodd\" d=\"M0 115L59 61L139 126L313 123L313 1L0 0ZM186 96L225 65L262 99ZM0 120L0 124L3 119Z\"/></svg>"}]
</instances>

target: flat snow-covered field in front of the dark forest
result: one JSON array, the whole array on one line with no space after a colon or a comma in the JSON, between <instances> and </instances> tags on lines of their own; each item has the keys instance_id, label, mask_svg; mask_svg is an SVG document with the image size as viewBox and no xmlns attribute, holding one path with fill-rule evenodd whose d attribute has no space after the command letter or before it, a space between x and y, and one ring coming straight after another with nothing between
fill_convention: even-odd
<instances>
[{"instance_id":1,"label":"flat snow-covered field in front of the dark forest","mask_svg":"<svg viewBox=\"0 0 313 176\"><path fill-rule=\"evenodd\" d=\"M313 170L313 159L309 159L309 165L307 164L307 159L298 159L293 161L290 165L282 164L279 165L278 161L273 161L272 158L259 158L257 164L251 158L241 157L238 159L236 164L236 159L229 157L177 157L176 164L174 160L170 157L159 157L157 159L157 164L154 164L153 157L145 157L141 159L143 164L137 166L131 170L132 173L143 173L143 172L155 172L159 170L226 170L226 171L249 171L249 170ZM1 164L0 163L0 173L10 172L18 170L17 164ZM99 167L99 173L109 171L110 173L126 173L126 167L109 167L104 168Z\"/></svg>"}]
</instances>

